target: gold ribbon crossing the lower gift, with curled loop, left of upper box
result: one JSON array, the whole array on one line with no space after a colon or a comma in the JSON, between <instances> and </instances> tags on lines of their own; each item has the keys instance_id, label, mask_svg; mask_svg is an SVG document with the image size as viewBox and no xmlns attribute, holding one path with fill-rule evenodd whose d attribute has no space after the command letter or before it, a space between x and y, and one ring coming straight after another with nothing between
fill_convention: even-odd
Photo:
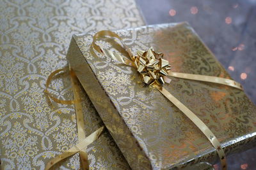
<instances>
[{"instance_id":1,"label":"gold ribbon crossing the lower gift, with curled loop, left of upper box","mask_svg":"<svg viewBox=\"0 0 256 170\"><path fill-rule=\"evenodd\" d=\"M49 91L47 90L51 80L54 75L60 73L61 71L66 71L66 69L57 69L56 71L53 71L47 78L46 85L45 85L45 94L47 94L47 97L51 98L53 101L56 103L60 104L75 104L75 109L76 109L76 120L77 120L77 136L78 136L78 144L76 146L73 146L69 150L61 153L57 157L54 157L53 159L50 160L50 162L47 163L45 166L45 170L51 169L52 166L60 162L61 160L66 159L67 157L70 157L77 152L80 154L81 158L81 167L82 169L89 169L89 163L88 163L88 155L86 153L86 148L88 145L93 143L93 141L97 140L102 134L102 131L104 130L104 126L100 127L97 129L97 131L93 132L90 134L90 136L85 137L85 132L84 132L84 118L83 118L83 112L82 112L82 104L81 104L81 99L79 96L79 87L77 85L78 80L76 77L76 74L72 69L70 69L70 78L72 81L72 90L74 93L74 100L70 101L64 101L57 99L56 97L51 96Z\"/></svg>"}]
</instances>

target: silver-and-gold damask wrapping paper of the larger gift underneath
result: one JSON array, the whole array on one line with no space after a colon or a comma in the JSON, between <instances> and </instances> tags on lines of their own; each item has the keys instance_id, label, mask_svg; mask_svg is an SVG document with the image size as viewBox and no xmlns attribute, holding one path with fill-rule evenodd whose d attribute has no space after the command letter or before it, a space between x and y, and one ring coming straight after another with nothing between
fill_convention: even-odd
<instances>
[{"instance_id":1,"label":"silver-and-gold damask wrapping paper of the larger gift underneath","mask_svg":"<svg viewBox=\"0 0 256 170\"><path fill-rule=\"evenodd\" d=\"M0 138L2 169L44 169L77 143L72 105L49 106L47 76L67 65L72 34L144 25L133 0L0 1ZM50 92L73 99L68 76L57 76ZM86 136L102 124L84 91ZM104 154L103 154L104 153ZM88 147L91 169L129 169L104 133ZM79 169L75 155L58 169Z\"/></svg>"}]
</instances>

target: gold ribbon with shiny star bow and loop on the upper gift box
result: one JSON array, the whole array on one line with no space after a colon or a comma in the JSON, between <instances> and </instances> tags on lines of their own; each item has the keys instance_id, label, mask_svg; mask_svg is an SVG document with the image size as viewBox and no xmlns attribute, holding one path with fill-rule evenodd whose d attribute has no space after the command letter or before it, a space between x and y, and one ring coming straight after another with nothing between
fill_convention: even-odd
<instances>
[{"instance_id":1,"label":"gold ribbon with shiny star bow and loop on the upper gift box","mask_svg":"<svg viewBox=\"0 0 256 170\"><path fill-rule=\"evenodd\" d=\"M103 38L105 36L110 36L111 38L117 38L121 41L124 49L129 54L130 59L126 59L122 57L118 53L111 52L110 50L100 48L99 45L96 44L97 39ZM111 57L114 60L118 60L122 64L126 66L135 67L140 73L141 80L145 83L145 85L153 85L156 87L163 96L165 96L170 102L172 102L180 111L182 111L195 125L203 132L207 139L211 142L212 146L216 149L218 156L220 157L221 167L222 169L227 169L227 162L225 153L223 148L221 147L220 141L214 136L212 131L207 127L207 125L198 118L193 111L189 110L184 104L182 104L176 97L172 96L170 92L164 89L164 83L170 83L170 78L168 77L176 77L176 78L184 78L189 80L197 80L197 81L207 81L211 83L219 83L222 85L228 85L230 87L234 87L240 90L243 90L242 86L234 80L230 80L227 78L220 78L216 76L205 76L200 74L188 74L188 73L175 73L170 71L171 66L168 60L163 59L163 53L156 53L154 49L150 47L147 51L139 50L137 55L134 56L131 53L131 50L124 45L122 38L118 36L115 32L112 31L99 31L93 36L92 47L99 53L106 55L107 57Z\"/></svg>"}]
</instances>

